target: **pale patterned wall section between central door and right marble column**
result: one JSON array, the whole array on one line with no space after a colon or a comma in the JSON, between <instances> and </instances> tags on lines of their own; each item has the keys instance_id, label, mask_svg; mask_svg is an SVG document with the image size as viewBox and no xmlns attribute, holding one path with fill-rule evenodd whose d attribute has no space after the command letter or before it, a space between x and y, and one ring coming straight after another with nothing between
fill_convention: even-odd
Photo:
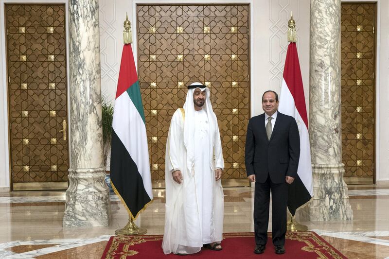
<instances>
[{"instance_id":1,"label":"pale patterned wall section between central door and right marble column","mask_svg":"<svg viewBox=\"0 0 389 259\"><path fill-rule=\"evenodd\" d=\"M290 12L296 20L297 48L299 52L305 103L309 107L309 0L255 0L253 3L254 45L251 47L251 113L263 113L260 102L265 90L281 92L287 42L287 22Z\"/></svg>"}]
</instances>

